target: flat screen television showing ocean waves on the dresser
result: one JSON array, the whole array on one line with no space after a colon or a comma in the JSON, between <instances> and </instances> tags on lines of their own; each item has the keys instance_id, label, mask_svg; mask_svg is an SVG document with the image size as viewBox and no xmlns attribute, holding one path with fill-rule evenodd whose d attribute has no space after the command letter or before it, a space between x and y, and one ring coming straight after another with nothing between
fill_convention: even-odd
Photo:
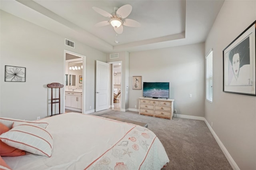
<instances>
[{"instance_id":1,"label":"flat screen television showing ocean waves on the dresser","mask_svg":"<svg viewBox=\"0 0 256 170\"><path fill-rule=\"evenodd\" d=\"M143 97L169 98L169 82L143 82Z\"/></svg>"}]
</instances>

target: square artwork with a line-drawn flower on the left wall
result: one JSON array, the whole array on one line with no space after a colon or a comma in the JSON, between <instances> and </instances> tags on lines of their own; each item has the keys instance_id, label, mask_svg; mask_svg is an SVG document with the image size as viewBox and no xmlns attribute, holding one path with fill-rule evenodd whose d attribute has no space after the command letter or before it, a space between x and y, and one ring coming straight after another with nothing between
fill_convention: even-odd
<instances>
[{"instance_id":1,"label":"square artwork with a line-drawn flower on the left wall","mask_svg":"<svg viewBox=\"0 0 256 170\"><path fill-rule=\"evenodd\" d=\"M26 67L5 65L4 81L26 82Z\"/></svg>"}]
</instances>

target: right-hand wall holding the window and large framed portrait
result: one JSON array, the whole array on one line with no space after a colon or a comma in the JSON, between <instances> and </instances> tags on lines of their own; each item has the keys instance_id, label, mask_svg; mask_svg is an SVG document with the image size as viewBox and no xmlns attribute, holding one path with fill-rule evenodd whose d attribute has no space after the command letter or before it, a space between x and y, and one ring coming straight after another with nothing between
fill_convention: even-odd
<instances>
[{"instance_id":1,"label":"right-hand wall holding the window and large framed portrait","mask_svg":"<svg viewBox=\"0 0 256 170\"><path fill-rule=\"evenodd\" d=\"M222 92L222 51L255 20L255 0L225 1L205 43L206 53L213 48L213 102L206 102L205 118L241 170L256 169L256 97Z\"/></svg>"}]
</instances>

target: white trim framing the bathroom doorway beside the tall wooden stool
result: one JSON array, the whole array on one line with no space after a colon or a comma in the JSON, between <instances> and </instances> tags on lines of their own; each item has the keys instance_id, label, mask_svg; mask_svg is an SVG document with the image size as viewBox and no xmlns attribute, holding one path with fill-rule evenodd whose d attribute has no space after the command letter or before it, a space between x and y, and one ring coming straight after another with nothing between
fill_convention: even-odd
<instances>
[{"instance_id":1,"label":"white trim framing the bathroom doorway beside the tall wooden stool","mask_svg":"<svg viewBox=\"0 0 256 170\"><path fill-rule=\"evenodd\" d=\"M78 53L74 53L72 51L68 51L68 50L65 50L64 49L64 73L63 73L63 84L65 84L65 73L66 73L66 54L72 54L72 55L76 55L78 57L82 57L83 58L83 65L84 65L84 69L82 71L82 77L83 77L83 83L82 83L82 113L84 114L85 113L85 99L86 99L86 91L85 91L85 85L86 85L86 56L85 55L82 55L82 54L78 54ZM65 91L66 91L66 86L65 88L63 88L63 96L65 96ZM63 113L65 113L65 98L63 97Z\"/></svg>"}]
</instances>

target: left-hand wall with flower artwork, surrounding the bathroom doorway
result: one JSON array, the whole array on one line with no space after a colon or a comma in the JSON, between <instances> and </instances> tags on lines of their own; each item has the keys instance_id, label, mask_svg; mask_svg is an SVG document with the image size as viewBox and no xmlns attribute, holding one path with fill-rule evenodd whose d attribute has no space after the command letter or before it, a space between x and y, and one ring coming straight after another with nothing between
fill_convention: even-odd
<instances>
[{"instance_id":1,"label":"left-hand wall with flower artwork, surrounding the bathroom doorway","mask_svg":"<svg viewBox=\"0 0 256 170\"><path fill-rule=\"evenodd\" d=\"M35 120L50 115L50 90L46 85L64 83L64 50L86 56L86 111L90 106L94 108L95 61L105 62L106 54L0 12L0 116ZM76 48L64 45L65 38L75 41ZM26 82L5 82L5 65L26 67ZM63 100L63 93L61 97ZM61 113L62 108L61 105Z\"/></svg>"}]
</instances>

